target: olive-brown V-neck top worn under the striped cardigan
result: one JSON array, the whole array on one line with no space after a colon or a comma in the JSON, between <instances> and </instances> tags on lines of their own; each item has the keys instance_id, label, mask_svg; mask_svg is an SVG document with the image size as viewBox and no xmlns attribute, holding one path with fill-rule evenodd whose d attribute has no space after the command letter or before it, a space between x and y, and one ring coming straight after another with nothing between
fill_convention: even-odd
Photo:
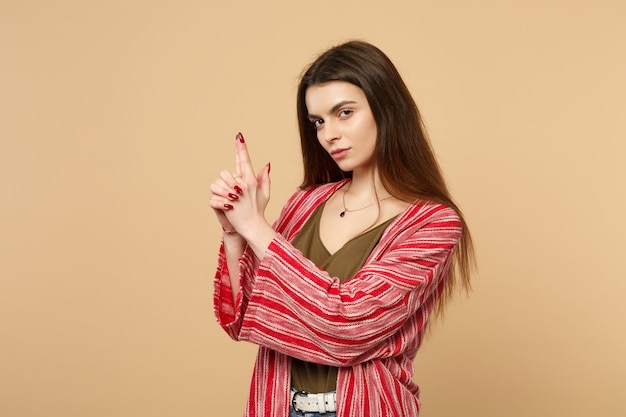
<instances>
[{"instance_id":1,"label":"olive-brown V-neck top worn under the striped cardigan","mask_svg":"<svg viewBox=\"0 0 626 417\"><path fill-rule=\"evenodd\" d=\"M347 241L339 250L331 254L320 238L320 219L325 203L321 204L302 226L292 244L315 265L341 283L348 281L363 267L368 256L380 241L387 226L395 218L381 223ZM349 219L346 219L349 221ZM338 368L301 361L292 358L291 385L296 390L321 393L337 389Z\"/></svg>"}]
</instances>

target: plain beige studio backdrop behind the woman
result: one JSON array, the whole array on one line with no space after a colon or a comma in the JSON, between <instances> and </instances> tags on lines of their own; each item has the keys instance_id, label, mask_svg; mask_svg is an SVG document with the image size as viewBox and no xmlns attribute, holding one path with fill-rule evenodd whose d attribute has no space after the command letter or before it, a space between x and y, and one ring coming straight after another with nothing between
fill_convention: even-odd
<instances>
[{"instance_id":1,"label":"plain beige studio backdrop behind the woman","mask_svg":"<svg viewBox=\"0 0 626 417\"><path fill-rule=\"evenodd\" d=\"M234 135L300 181L295 87L369 40L414 93L480 270L424 417L626 415L626 3L0 2L0 415L242 413L208 185Z\"/></svg>"}]
</instances>

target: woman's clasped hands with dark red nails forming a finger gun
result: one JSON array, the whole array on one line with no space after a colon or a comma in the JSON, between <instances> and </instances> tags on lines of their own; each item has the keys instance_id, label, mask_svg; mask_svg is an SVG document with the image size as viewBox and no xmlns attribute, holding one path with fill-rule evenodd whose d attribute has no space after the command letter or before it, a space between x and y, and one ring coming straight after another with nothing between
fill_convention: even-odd
<instances>
[{"instance_id":1,"label":"woman's clasped hands with dark red nails forming a finger gun","mask_svg":"<svg viewBox=\"0 0 626 417\"><path fill-rule=\"evenodd\" d=\"M241 133L237 134L235 142L236 170L234 173L222 171L211 184L209 204L222 228L236 231L253 249L257 247L255 253L257 250L264 252L274 236L265 220L265 208L270 199L270 164L255 174Z\"/></svg>"}]
</instances>

